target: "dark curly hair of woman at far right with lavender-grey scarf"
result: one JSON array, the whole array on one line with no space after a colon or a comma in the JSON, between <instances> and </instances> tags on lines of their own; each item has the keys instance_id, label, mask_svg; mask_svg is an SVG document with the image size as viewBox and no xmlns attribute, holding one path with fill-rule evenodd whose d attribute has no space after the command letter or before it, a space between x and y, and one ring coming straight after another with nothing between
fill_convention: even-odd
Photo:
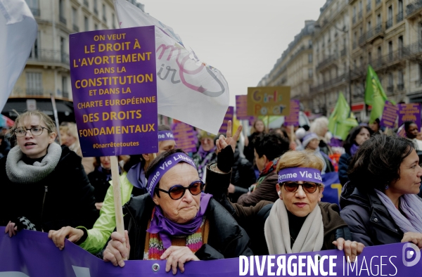
<instances>
[{"instance_id":1,"label":"dark curly hair of woman at far right with lavender-grey scarf","mask_svg":"<svg viewBox=\"0 0 422 277\"><path fill-rule=\"evenodd\" d=\"M371 136L350 162L347 175L352 186L383 191L387 184L400 179L400 165L412 150L414 145L408 139L385 134Z\"/></svg>"}]
</instances>

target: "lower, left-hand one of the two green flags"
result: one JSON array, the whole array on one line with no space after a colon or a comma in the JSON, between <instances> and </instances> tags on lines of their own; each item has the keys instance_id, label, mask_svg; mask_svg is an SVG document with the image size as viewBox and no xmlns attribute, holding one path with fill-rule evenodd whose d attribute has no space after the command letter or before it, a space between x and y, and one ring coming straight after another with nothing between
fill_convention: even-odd
<instances>
[{"instance_id":1,"label":"lower, left-hand one of the two green flags","mask_svg":"<svg viewBox=\"0 0 422 277\"><path fill-rule=\"evenodd\" d=\"M353 113L350 112L349 104L347 104L343 92L340 92L335 108L328 119L328 130L336 138L344 141L350 129L357 125L357 120L354 119Z\"/></svg>"}]
</instances>

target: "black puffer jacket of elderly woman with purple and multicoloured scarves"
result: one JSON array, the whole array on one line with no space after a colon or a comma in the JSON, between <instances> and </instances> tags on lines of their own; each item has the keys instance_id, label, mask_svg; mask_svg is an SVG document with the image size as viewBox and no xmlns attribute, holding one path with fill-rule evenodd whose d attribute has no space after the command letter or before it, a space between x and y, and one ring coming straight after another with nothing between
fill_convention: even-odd
<instances>
[{"instance_id":1,"label":"black puffer jacket of elderly woman with purple and multicoloured scarves","mask_svg":"<svg viewBox=\"0 0 422 277\"><path fill-rule=\"evenodd\" d=\"M155 203L149 194L131 198L123 207L124 229L129 232L129 259L143 259L146 229ZM208 243L195 255L201 260L253 255L248 234L222 205L211 198L205 217L210 221Z\"/></svg>"}]
</instances>

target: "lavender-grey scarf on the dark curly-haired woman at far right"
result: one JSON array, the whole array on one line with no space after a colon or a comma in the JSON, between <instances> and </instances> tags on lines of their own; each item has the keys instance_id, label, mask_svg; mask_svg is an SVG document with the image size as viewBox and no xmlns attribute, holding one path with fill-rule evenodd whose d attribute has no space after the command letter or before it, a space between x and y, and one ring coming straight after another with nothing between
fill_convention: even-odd
<instances>
[{"instance_id":1,"label":"lavender-grey scarf on the dark curly-haired woman at far right","mask_svg":"<svg viewBox=\"0 0 422 277\"><path fill-rule=\"evenodd\" d=\"M416 194L404 194L400 196L400 209L397 210L391 199L385 193L375 190L378 198L390 213L392 220L399 226L403 233L422 233L422 201Z\"/></svg>"}]
</instances>

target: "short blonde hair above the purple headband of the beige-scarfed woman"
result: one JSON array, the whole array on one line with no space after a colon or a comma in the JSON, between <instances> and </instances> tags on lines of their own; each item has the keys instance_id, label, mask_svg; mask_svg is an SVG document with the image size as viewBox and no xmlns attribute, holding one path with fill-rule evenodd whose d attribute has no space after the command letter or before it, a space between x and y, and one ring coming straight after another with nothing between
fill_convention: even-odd
<instances>
[{"instance_id":1,"label":"short blonde hair above the purple headband of the beige-scarfed woman","mask_svg":"<svg viewBox=\"0 0 422 277\"><path fill-rule=\"evenodd\" d=\"M281 155L276 171L279 172L288 167L311 167L321 171L324 168L324 162L314 154L313 150L288 151Z\"/></svg>"}]
</instances>

